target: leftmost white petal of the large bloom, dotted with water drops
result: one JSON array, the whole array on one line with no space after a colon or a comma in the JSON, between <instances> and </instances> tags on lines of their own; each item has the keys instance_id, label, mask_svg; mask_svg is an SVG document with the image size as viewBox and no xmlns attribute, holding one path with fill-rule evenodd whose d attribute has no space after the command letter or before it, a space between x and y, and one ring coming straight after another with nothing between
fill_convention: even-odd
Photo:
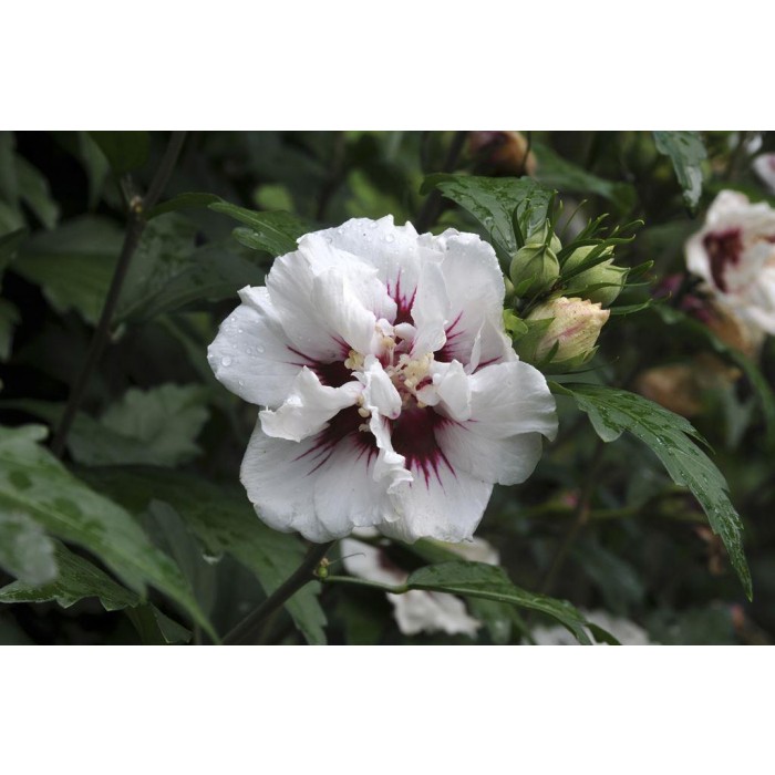
<instances>
[{"instance_id":1,"label":"leftmost white petal of the large bloom, dotted with water drops","mask_svg":"<svg viewBox=\"0 0 775 775\"><path fill-rule=\"evenodd\" d=\"M220 324L207 349L215 375L232 393L262 406L277 406L301 369L266 288L239 291L242 303Z\"/></svg>"}]
</instances>

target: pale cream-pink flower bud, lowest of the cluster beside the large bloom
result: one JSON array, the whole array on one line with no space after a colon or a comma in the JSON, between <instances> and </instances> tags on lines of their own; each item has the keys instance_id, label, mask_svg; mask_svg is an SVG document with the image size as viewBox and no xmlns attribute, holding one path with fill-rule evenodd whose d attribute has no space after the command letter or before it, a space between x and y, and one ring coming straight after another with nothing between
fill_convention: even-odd
<instances>
[{"instance_id":1,"label":"pale cream-pink flower bud, lowest of the cluster beside the large bloom","mask_svg":"<svg viewBox=\"0 0 775 775\"><path fill-rule=\"evenodd\" d=\"M545 361L557 345L551 363L568 368L586 363L595 354L600 329L610 314L589 299L560 297L539 304L526 320L552 320L536 345L536 361Z\"/></svg>"}]
</instances>

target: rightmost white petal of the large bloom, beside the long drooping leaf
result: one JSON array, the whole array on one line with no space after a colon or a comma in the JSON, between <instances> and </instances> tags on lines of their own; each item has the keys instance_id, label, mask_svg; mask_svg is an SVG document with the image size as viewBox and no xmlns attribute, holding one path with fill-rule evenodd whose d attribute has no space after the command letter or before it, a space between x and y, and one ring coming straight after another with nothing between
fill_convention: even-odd
<instances>
[{"instance_id":1,"label":"rightmost white petal of the large bloom, beside the long drooping leaf","mask_svg":"<svg viewBox=\"0 0 775 775\"><path fill-rule=\"evenodd\" d=\"M557 435L557 407L544 374L523 361L496 363L471 378L472 422L487 438Z\"/></svg>"}]
</instances>

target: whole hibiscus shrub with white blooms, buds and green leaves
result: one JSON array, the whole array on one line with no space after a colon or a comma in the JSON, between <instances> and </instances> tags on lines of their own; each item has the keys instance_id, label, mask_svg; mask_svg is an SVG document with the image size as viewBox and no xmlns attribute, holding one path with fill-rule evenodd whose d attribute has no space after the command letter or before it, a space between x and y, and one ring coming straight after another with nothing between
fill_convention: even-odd
<instances>
[{"instance_id":1,"label":"whole hibiscus shrub with white blooms, buds and green leaves","mask_svg":"<svg viewBox=\"0 0 775 775\"><path fill-rule=\"evenodd\" d=\"M1 133L0 642L771 642L771 151Z\"/></svg>"}]
</instances>

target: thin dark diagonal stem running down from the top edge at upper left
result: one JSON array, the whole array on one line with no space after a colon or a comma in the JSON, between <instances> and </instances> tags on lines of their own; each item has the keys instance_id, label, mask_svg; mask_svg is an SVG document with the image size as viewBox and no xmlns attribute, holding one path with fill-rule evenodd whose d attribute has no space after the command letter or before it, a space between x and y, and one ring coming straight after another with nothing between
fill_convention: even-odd
<instances>
[{"instance_id":1,"label":"thin dark diagonal stem running down from the top edge at upper left","mask_svg":"<svg viewBox=\"0 0 775 775\"><path fill-rule=\"evenodd\" d=\"M83 396L86 392L86 385L89 384L92 372L100 361L102 352L105 349L105 344L107 343L108 331L113 320L113 313L115 312L116 304L118 303L121 289L124 285L124 280L126 279L126 272L132 262L132 257L140 245L140 238L143 236L143 230L145 229L145 216L164 193L164 189L169 182L169 176L172 175L173 168L175 167L175 162L177 161L180 149L183 148L185 137L185 132L173 132L169 143L167 144L167 149L164 152L164 156L158 169L156 170L156 175L154 175L154 179L151 183L148 193L142 199L135 197L128 203L130 214L126 223L124 244L122 245L118 262L115 271L113 272L111 287L107 291L107 296L105 297L105 303L102 307L100 321L97 322L96 330L94 331L94 335L92 337L92 341L89 345L86 360L83 362L81 371L75 379L75 384L70 391L68 405L64 407L62 418L60 420L53 441L51 442L51 451L54 453L54 455L56 455L56 457L62 457L64 454L64 446L68 441L70 427L72 426L75 415L78 414L81 403L83 402Z\"/></svg>"}]
</instances>

